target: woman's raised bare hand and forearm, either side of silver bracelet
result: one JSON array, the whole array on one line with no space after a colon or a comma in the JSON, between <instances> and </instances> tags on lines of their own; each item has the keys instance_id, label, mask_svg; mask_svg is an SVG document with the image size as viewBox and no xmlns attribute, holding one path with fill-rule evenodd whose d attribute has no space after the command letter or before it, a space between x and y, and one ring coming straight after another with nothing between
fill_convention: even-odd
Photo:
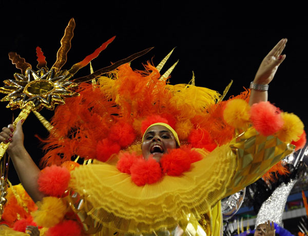
<instances>
[{"instance_id":1,"label":"woman's raised bare hand and forearm, either side of silver bracelet","mask_svg":"<svg viewBox=\"0 0 308 236\"><path fill-rule=\"evenodd\" d=\"M260 101L267 101L267 90L262 91L262 88L258 89L258 85L267 85L273 80L279 65L285 59L285 54L281 55L281 53L285 47L286 41L286 38L281 39L262 60L253 81L253 83L257 85L255 85L256 89L252 88L251 90L249 105L253 105Z\"/></svg>"}]
</instances>

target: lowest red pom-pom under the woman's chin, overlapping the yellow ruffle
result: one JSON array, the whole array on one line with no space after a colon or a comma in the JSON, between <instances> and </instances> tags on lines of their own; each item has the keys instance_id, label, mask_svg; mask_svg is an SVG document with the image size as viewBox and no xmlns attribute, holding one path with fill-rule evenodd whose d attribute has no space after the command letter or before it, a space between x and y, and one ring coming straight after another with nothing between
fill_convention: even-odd
<instances>
[{"instance_id":1,"label":"lowest red pom-pom under the woman's chin, overlapping the yellow ruffle","mask_svg":"<svg viewBox=\"0 0 308 236\"><path fill-rule=\"evenodd\" d=\"M138 186L153 184L162 177L160 164L153 158L138 159L130 167L131 180Z\"/></svg>"}]
</instances>

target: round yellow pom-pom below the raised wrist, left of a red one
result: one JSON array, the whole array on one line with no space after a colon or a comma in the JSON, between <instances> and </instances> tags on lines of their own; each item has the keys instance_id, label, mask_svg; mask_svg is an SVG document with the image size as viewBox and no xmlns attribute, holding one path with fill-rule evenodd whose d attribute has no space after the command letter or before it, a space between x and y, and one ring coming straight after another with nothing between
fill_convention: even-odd
<instances>
[{"instance_id":1,"label":"round yellow pom-pom below the raised wrist, left of a red one","mask_svg":"<svg viewBox=\"0 0 308 236\"><path fill-rule=\"evenodd\" d=\"M223 118L229 125L241 128L249 123L249 110L250 106L245 100L233 99L227 102Z\"/></svg>"}]
</instances>

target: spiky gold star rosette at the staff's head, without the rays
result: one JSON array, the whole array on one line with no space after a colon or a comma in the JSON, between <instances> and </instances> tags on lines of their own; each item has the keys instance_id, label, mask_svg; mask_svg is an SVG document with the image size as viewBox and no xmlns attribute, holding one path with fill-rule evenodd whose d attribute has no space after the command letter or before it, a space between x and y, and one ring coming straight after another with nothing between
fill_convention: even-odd
<instances>
[{"instance_id":1,"label":"spiky gold star rosette at the staff's head, without the rays","mask_svg":"<svg viewBox=\"0 0 308 236\"><path fill-rule=\"evenodd\" d=\"M29 104L32 110L40 111L44 106L54 110L54 105L65 104L65 97L78 96L78 93L70 91L78 87L77 83L69 81L72 77L68 71L56 72L53 68L47 71L42 68L33 71L28 68L25 75L14 74L14 80L8 79L1 88L3 93L8 93L1 101L9 101L7 108L24 109Z\"/></svg>"}]
</instances>

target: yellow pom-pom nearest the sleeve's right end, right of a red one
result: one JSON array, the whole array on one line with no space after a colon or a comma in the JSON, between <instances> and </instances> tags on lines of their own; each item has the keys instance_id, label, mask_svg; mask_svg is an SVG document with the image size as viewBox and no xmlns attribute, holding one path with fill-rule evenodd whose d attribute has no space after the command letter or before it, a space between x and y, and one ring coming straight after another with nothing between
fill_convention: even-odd
<instances>
[{"instance_id":1,"label":"yellow pom-pom nearest the sleeve's right end, right of a red one","mask_svg":"<svg viewBox=\"0 0 308 236\"><path fill-rule=\"evenodd\" d=\"M286 143L298 141L304 130L304 124L297 115L293 113L282 113L283 126L277 132L277 137Z\"/></svg>"}]
</instances>

